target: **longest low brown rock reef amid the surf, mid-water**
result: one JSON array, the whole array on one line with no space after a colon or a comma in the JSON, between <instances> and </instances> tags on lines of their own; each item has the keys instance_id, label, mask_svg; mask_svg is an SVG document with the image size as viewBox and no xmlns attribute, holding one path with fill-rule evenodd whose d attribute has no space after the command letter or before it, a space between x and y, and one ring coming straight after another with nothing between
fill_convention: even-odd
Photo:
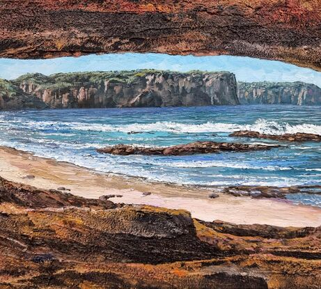
<instances>
[{"instance_id":1,"label":"longest low brown rock reef amid the surf, mid-water","mask_svg":"<svg viewBox=\"0 0 321 289\"><path fill-rule=\"evenodd\" d=\"M201 153L248 152L251 150L269 150L278 146L252 145L244 143L215 143L214 141L196 141L167 148L146 148L140 146L128 146L118 144L98 148L98 153L109 153L112 155L194 155Z\"/></svg>"}]
</instances>

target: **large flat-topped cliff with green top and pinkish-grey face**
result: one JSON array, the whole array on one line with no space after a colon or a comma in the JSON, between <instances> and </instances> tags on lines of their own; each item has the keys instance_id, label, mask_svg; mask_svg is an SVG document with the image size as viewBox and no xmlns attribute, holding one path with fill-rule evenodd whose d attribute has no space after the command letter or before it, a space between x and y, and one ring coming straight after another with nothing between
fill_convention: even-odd
<instances>
[{"instance_id":1,"label":"large flat-topped cliff with green top and pinkish-grey face","mask_svg":"<svg viewBox=\"0 0 321 289\"><path fill-rule=\"evenodd\" d=\"M52 108L239 104L230 72L84 72L23 75L13 83Z\"/></svg>"}]
</instances>

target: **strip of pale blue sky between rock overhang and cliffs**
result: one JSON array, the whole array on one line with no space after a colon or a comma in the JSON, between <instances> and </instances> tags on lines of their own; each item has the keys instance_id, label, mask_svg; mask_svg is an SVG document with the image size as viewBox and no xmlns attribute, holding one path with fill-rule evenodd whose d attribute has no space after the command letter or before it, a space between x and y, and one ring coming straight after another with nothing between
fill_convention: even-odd
<instances>
[{"instance_id":1,"label":"strip of pale blue sky between rock overhang and cliffs","mask_svg":"<svg viewBox=\"0 0 321 289\"><path fill-rule=\"evenodd\" d=\"M15 79L26 72L51 75L56 72L95 70L227 70L238 81L304 81L321 87L321 72L280 61L241 56L171 56L168 54L91 54L80 57L20 60L0 58L0 78Z\"/></svg>"}]
</instances>

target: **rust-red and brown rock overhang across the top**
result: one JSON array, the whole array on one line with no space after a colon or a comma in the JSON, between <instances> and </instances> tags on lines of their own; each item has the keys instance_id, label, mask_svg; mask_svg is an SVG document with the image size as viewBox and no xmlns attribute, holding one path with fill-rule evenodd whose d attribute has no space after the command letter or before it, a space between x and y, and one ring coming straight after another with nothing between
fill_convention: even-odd
<instances>
[{"instance_id":1,"label":"rust-red and brown rock overhang across the top","mask_svg":"<svg viewBox=\"0 0 321 289\"><path fill-rule=\"evenodd\" d=\"M321 70L321 1L1 0L0 56L231 54Z\"/></svg>"}]
</instances>

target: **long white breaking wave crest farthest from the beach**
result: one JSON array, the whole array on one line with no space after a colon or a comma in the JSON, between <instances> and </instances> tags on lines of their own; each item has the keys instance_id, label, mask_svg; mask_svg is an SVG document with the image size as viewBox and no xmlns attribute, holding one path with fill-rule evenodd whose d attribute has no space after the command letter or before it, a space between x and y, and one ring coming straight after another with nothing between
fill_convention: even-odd
<instances>
[{"instance_id":1,"label":"long white breaking wave crest farthest from the beach","mask_svg":"<svg viewBox=\"0 0 321 289\"><path fill-rule=\"evenodd\" d=\"M4 122L3 122L4 123ZM82 130L95 132L172 132L172 133L202 133L202 132L235 132L237 130L253 130L265 134L294 134L296 132L306 132L311 134L321 134L321 125L302 123L290 125L289 123L276 122L259 118L253 124L237 123L201 123L188 124L170 121L157 121L155 123L132 123L129 125L109 125L100 123L61 123L54 121L24 121L9 120L6 125L13 125L20 128L30 128L32 130Z\"/></svg>"}]
</instances>

